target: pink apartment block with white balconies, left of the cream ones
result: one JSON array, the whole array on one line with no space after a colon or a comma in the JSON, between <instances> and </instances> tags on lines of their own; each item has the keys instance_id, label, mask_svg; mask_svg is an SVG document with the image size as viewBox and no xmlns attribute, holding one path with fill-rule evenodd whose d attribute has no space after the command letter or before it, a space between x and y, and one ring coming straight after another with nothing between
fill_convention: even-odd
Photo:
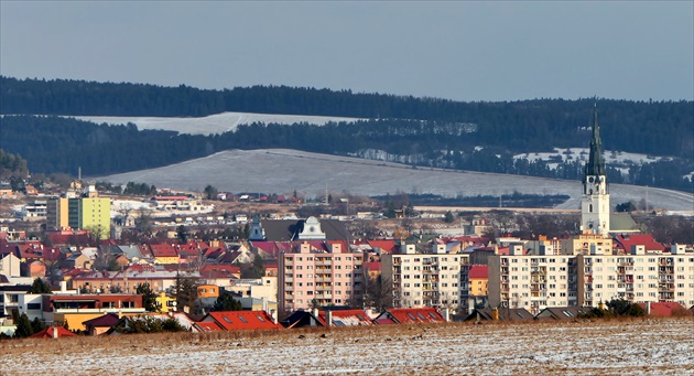
<instances>
[{"instance_id":1,"label":"pink apartment block with white balconies, left of the cream ones","mask_svg":"<svg viewBox=\"0 0 694 376\"><path fill-rule=\"evenodd\" d=\"M364 296L364 254L349 253L343 241L303 241L279 257L279 309L347 305ZM315 304L314 304L315 305Z\"/></svg>"}]
</instances>

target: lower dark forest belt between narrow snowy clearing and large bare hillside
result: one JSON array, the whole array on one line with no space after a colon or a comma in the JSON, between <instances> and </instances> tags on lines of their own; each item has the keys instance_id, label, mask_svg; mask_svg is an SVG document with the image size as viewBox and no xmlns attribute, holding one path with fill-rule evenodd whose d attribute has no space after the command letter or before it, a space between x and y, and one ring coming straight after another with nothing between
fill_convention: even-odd
<instances>
[{"instance_id":1,"label":"lower dark forest belt between narrow snowy clearing and large bare hillside","mask_svg":"<svg viewBox=\"0 0 694 376\"><path fill-rule=\"evenodd\" d=\"M177 135L171 131L138 131L133 125L107 126L61 117L4 116L0 136L7 149L25 158L32 171L74 172L82 166L90 175L156 168L229 149L290 148L321 153L357 154L384 150L410 155L404 162L420 166L577 180L584 162L529 161L513 158L502 147L475 146L485 141L477 133L456 132L436 121L368 120L328 123L323 127L252 123L235 132L215 136ZM583 130L581 140L588 139ZM516 151L520 152L520 151ZM550 163L556 168L550 168ZM692 181L683 178L694 171L691 159L669 159L633 165L627 174L608 166L612 183L631 183L692 192ZM126 186L133 194L151 194L151 186ZM132 192L131 192L132 191ZM137 191L137 192L135 192ZM213 192L208 192L213 193Z\"/></svg>"}]
</instances>

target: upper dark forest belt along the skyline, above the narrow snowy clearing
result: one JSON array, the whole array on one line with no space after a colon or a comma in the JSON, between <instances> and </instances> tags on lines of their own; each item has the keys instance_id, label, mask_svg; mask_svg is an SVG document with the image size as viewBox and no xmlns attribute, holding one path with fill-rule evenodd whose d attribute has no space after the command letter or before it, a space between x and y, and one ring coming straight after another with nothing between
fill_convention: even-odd
<instances>
[{"instance_id":1,"label":"upper dark forest belt along the skyline, above the narrow snowy clearing","mask_svg":"<svg viewBox=\"0 0 694 376\"><path fill-rule=\"evenodd\" d=\"M286 86L207 90L183 85L0 77L0 114L198 117L242 111L416 119L471 125L475 132L469 138L477 144L514 151L585 147L579 130L589 125L595 101L463 103ZM598 99L597 105L604 144L609 149L690 159L694 153L692 101Z\"/></svg>"}]
</instances>

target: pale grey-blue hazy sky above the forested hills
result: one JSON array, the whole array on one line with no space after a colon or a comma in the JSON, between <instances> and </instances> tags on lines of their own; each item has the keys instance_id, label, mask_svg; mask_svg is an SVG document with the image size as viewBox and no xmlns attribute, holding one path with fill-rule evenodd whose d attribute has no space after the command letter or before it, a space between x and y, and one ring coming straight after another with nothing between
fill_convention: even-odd
<instances>
[{"instance_id":1,"label":"pale grey-blue hazy sky above the forested hills","mask_svg":"<svg viewBox=\"0 0 694 376\"><path fill-rule=\"evenodd\" d=\"M460 100L694 99L694 1L0 1L0 73Z\"/></svg>"}]
</instances>

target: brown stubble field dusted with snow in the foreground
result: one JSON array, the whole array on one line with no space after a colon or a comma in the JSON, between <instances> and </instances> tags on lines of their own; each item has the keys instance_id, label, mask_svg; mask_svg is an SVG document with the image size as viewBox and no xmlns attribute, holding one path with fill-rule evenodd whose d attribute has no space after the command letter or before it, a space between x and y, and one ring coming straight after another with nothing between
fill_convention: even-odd
<instances>
[{"instance_id":1,"label":"brown stubble field dusted with snow in the foreground","mask_svg":"<svg viewBox=\"0 0 694 376\"><path fill-rule=\"evenodd\" d=\"M692 318L67 337L0 346L3 376L694 375Z\"/></svg>"}]
</instances>

